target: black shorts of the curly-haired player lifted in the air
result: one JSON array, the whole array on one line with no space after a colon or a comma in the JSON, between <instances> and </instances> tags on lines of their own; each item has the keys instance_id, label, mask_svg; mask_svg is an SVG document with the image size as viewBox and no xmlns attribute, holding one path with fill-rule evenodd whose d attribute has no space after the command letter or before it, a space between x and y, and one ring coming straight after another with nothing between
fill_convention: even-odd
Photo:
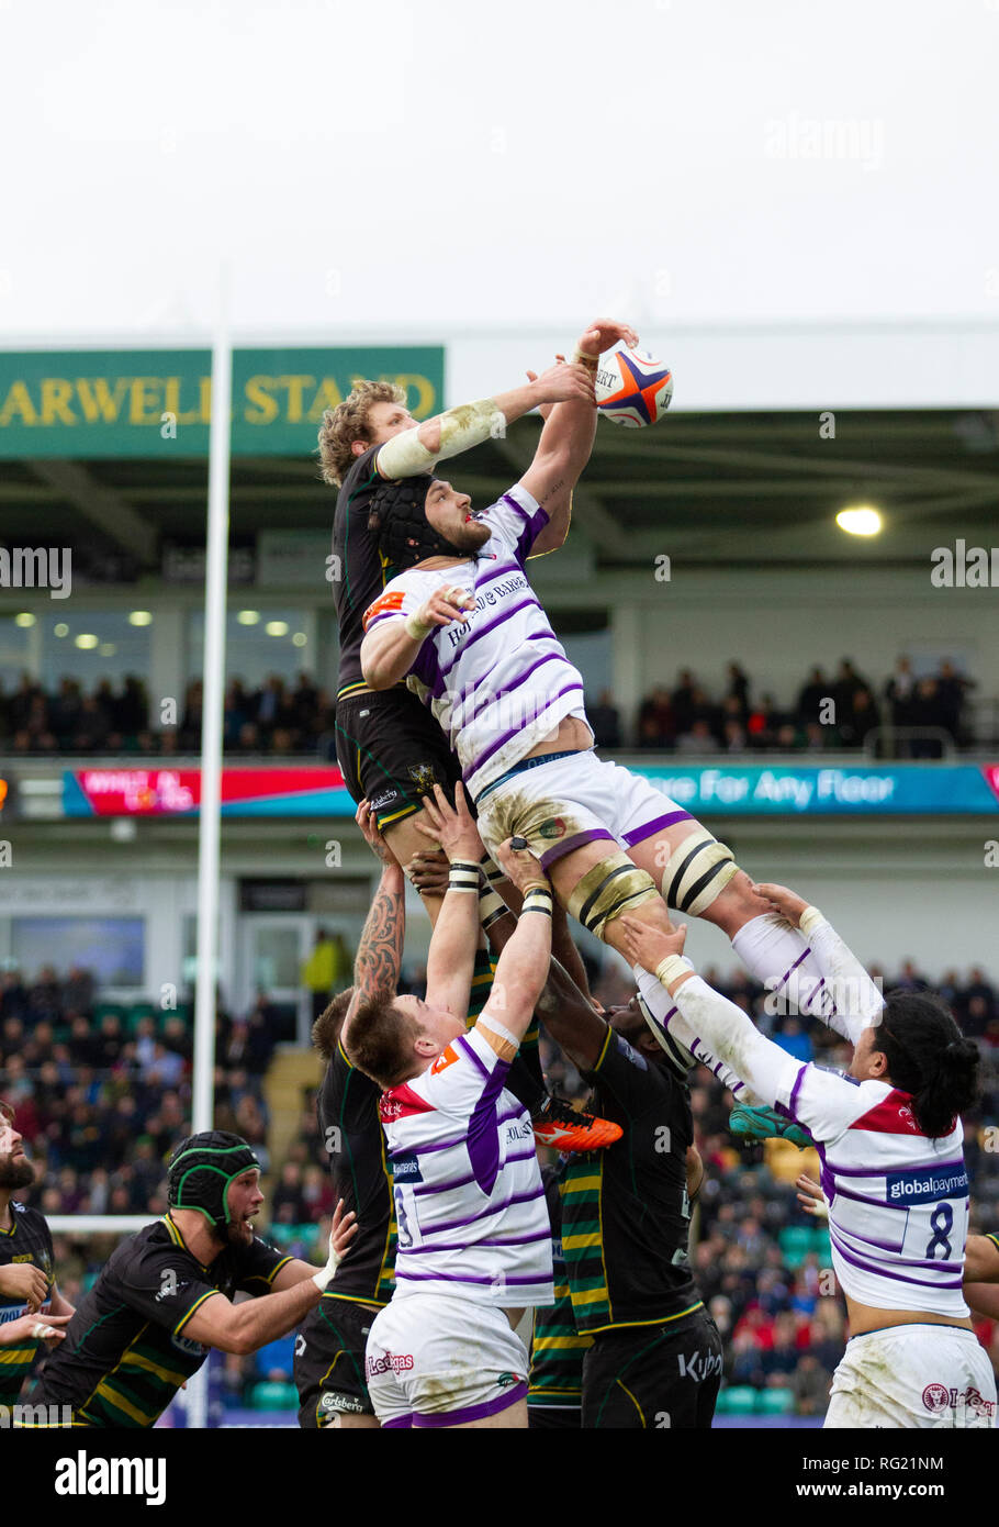
<instances>
[{"instance_id":1,"label":"black shorts of the curly-haired player lifted in the air","mask_svg":"<svg viewBox=\"0 0 999 1527\"><path fill-rule=\"evenodd\" d=\"M421 808L421 797L461 779L458 757L410 690L363 690L337 701L337 762L354 800L369 800L384 828Z\"/></svg>"}]
</instances>

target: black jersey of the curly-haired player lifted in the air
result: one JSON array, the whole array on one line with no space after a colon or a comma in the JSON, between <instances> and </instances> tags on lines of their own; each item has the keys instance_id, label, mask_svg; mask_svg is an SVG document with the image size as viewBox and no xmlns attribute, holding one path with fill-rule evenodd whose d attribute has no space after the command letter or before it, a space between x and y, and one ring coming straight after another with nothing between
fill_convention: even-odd
<instances>
[{"instance_id":1,"label":"black jersey of the curly-haired player lifted in the air","mask_svg":"<svg viewBox=\"0 0 999 1527\"><path fill-rule=\"evenodd\" d=\"M332 599L340 628L337 698L365 687L361 641L365 611L378 597L386 574L378 547L368 530L371 501L384 483L375 467L377 446L358 457L343 478L332 515Z\"/></svg>"}]
</instances>

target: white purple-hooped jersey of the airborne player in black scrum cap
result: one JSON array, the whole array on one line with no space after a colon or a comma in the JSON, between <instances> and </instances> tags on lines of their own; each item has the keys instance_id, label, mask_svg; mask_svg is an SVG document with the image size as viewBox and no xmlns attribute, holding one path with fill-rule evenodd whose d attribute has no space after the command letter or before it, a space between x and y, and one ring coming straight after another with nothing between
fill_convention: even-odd
<instances>
[{"instance_id":1,"label":"white purple-hooped jersey of the airborne player in black scrum cap","mask_svg":"<svg viewBox=\"0 0 999 1527\"><path fill-rule=\"evenodd\" d=\"M520 484L487 508L493 531L476 557L450 568L410 568L365 612L365 631L407 620L439 588L476 600L467 621L438 626L410 669L458 753L471 796L526 757L566 716L583 710L583 676L566 657L528 583L525 560L548 515Z\"/></svg>"}]
</instances>

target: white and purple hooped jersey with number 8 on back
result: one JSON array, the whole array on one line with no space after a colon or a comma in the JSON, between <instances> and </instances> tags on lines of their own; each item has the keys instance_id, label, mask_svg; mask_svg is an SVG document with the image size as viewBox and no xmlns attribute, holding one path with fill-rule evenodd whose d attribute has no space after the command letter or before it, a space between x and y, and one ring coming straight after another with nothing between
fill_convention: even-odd
<instances>
[{"instance_id":1,"label":"white and purple hooped jersey with number 8 on back","mask_svg":"<svg viewBox=\"0 0 999 1527\"><path fill-rule=\"evenodd\" d=\"M776 1101L816 1141L843 1292L879 1309L965 1316L968 1171L961 1121L930 1139L907 1092L813 1064L790 1063Z\"/></svg>"}]
</instances>

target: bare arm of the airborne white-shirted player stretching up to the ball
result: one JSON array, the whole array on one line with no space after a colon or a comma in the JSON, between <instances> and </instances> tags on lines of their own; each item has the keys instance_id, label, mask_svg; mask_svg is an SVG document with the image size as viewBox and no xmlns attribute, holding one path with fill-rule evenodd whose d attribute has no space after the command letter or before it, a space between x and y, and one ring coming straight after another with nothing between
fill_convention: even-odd
<instances>
[{"instance_id":1,"label":"bare arm of the airborne white-shirted player stretching up to the ball","mask_svg":"<svg viewBox=\"0 0 999 1527\"><path fill-rule=\"evenodd\" d=\"M613 348L621 339L628 345L638 344L638 334L628 324L619 324L607 318L598 318L581 334L573 363L589 379L589 395L561 403L551 411L544 421L534 461L520 479L520 486L537 499L548 515L548 524L534 539L531 556L555 551L569 534L572 489L578 483L586 463L590 460L593 435L596 434L593 377L596 376L601 354Z\"/></svg>"}]
</instances>

